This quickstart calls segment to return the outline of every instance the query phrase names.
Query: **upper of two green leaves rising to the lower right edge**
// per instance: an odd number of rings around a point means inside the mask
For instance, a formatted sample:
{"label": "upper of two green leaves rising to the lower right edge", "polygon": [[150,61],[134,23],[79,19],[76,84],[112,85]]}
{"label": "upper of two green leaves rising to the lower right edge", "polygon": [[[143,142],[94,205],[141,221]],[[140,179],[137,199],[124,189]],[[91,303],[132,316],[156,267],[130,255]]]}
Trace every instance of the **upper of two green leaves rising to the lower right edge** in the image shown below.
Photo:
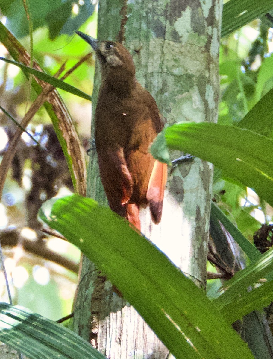
{"label": "upper of two green leaves rising to the lower right edge", "polygon": [[[241,293],[245,295],[249,286],[265,278],[273,270],[273,248],[265,252],[258,261],[249,265],[244,270],[237,272],[233,278],[225,282],[223,289],[226,291],[213,301],[220,310],[232,303]],[[272,282],[269,282],[272,283]]]}

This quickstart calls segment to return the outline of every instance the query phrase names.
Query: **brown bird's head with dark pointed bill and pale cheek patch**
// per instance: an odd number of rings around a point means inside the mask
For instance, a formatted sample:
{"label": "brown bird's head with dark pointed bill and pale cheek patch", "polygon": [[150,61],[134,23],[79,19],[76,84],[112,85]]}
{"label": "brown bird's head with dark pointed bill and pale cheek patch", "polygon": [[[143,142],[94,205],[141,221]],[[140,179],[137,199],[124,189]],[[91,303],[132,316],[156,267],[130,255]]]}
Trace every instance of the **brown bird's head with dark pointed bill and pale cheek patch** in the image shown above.
{"label": "brown bird's head with dark pointed bill and pale cheek patch", "polygon": [[102,77],[122,74],[123,77],[127,75],[134,78],[134,62],[129,51],[123,45],[114,41],[98,41],[80,31],[76,31],[76,33],[96,51],[101,64]]}

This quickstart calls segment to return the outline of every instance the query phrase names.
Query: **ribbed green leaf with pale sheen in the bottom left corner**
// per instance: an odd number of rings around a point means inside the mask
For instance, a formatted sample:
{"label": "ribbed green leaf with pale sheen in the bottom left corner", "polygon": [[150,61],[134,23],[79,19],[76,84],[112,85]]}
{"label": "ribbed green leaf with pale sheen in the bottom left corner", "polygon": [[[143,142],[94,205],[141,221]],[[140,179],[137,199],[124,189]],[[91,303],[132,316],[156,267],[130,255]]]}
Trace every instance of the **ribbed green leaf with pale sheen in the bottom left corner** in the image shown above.
{"label": "ribbed green leaf with pale sheen in the bottom left corner", "polygon": [[105,359],[71,330],[7,303],[0,303],[0,340],[30,359]]}

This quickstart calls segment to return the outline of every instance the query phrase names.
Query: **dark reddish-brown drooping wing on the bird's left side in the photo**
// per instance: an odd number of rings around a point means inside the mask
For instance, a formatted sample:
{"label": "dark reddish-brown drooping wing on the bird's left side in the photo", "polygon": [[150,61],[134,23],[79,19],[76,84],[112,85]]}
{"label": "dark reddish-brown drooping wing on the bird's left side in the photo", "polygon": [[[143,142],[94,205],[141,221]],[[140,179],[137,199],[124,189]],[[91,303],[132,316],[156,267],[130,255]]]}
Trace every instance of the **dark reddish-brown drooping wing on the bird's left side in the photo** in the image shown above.
{"label": "dark reddish-brown drooping wing on the bird's left side in the photo", "polygon": [[118,207],[126,204],[133,192],[133,180],[124,159],[123,148],[100,151],[98,163],[109,205],[119,213]]}

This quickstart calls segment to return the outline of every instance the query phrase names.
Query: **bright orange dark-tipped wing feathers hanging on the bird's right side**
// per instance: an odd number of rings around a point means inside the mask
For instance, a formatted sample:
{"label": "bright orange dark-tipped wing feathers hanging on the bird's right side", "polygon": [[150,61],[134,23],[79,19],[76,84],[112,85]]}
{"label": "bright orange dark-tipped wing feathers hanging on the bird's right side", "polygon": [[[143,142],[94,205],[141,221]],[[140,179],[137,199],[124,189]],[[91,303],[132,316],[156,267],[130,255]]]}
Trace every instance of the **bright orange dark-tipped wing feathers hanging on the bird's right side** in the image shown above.
{"label": "bright orange dark-tipped wing feathers hanging on the bird's right side", "polygon": [[148,183],[147,200],[154,223],[158,224],[162,216],[164,191],[167,182],[167,164],[154,161],[152,173]]}

